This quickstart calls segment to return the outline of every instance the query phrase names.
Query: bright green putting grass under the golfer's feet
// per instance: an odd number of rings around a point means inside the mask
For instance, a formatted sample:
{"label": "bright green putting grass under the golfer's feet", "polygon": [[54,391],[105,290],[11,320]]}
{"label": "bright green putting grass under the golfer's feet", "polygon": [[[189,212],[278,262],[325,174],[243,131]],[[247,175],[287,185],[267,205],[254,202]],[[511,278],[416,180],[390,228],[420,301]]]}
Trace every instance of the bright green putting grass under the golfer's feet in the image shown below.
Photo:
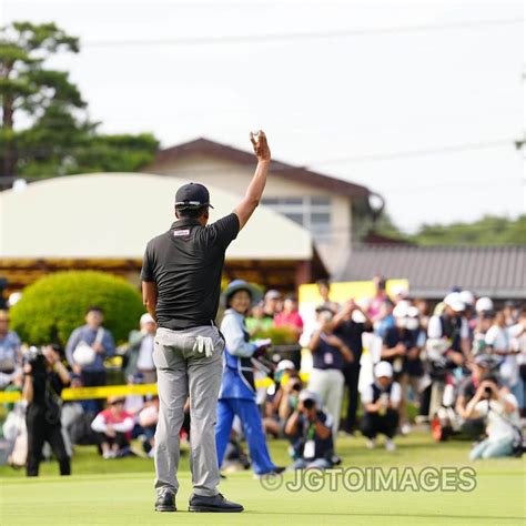
{"label": "bright green putting grass under the golfer's feet", "polygon": [[[245,506],[243,514],[189,514],[191,492],[188,455],[182,457],[176,514],[153,509],[153,463],[145,458],[102,461],[93,448],[80,447],[73,476],[57,476],[55,463],[42,465],[39,478],[0,468],[0,524],[2,525],[164,525],[164,524],[352,524],[352,525],[507,525],[525,524],[524,461],[467,459],[465,442],[433,443],[427,434],[397,439],[398,448],[368,451],[363,438],[338,438],[345,466],[354,467],[462,467],[476,469],[476,488],[465,492],[348,492],[327,484],[320,492],[265,490],[252,472],[229,475],[221,490]],[[286,464],[286,446],[273,441],[274,462]],[[286,475],[285,482],[293,479]]]}

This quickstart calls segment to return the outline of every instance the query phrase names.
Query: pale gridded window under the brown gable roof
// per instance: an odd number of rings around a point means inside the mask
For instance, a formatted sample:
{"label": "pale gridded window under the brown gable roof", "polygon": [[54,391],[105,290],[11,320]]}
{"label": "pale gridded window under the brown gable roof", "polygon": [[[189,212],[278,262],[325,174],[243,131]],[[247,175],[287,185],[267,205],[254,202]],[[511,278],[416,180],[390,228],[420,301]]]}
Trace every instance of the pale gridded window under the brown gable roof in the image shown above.
{"label": "pale gridded window under the brown gable roof", "polygon": [[262,204],[305,226],[316,241],[331,240],[331,198],[264,198]]}

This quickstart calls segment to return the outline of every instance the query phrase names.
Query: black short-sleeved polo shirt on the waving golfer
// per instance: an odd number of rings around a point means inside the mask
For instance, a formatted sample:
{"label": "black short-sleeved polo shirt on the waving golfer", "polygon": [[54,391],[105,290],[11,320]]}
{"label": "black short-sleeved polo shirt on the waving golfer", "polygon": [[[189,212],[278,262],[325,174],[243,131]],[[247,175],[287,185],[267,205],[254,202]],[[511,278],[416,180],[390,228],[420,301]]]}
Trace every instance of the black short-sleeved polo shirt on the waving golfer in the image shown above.
{"label": "black short-sleeved polo shirt on the waving golfer", "polygon": [[234,213],[208,226],[183,219],[148,243],[141,279],[156,284],[159,326],[183,330],[215,320],[224,253],[239,231]]}

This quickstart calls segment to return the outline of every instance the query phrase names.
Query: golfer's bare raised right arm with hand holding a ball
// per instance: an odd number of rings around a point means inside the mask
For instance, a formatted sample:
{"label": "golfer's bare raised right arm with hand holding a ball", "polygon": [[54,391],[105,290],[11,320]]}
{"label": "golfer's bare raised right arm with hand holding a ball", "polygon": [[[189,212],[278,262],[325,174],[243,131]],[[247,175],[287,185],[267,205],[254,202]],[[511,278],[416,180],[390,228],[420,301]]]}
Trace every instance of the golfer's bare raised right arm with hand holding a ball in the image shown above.
{"label": "golfer's bare raised right arm with hand holding a ball", "polygon": [[[256,140],[257,139],[257,140]],[[257,135],[251,132],[250,140],[254,146],[255,156],[257,158],[257,166],[249,188],[246,189],[243,201],[234,209],[234,213],[240,220],[240,230],[246,224],[256,206],[260,204],[263,190],[265,189],[266,175],[271,164],[271,150],[266,143],[266,135],[260,130]]]}

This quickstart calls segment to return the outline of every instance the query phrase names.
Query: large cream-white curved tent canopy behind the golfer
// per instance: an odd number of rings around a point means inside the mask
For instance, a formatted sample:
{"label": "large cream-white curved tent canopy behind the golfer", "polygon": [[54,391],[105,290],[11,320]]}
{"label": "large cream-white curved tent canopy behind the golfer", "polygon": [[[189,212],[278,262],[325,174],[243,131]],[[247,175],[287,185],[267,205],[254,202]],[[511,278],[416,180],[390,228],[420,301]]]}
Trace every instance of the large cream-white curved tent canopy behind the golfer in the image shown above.
{"label": "large cream-white curved tent canopy behind the golfer", "polygon": [[[174,195],[188,181],[143,173],[49,179],[0,192],[0,257],[136,259],[174,221]],[[209,188],[210,221],[240,198]],[[229,260],[311,260],[307,230],[261,206],[226,252]]]}

